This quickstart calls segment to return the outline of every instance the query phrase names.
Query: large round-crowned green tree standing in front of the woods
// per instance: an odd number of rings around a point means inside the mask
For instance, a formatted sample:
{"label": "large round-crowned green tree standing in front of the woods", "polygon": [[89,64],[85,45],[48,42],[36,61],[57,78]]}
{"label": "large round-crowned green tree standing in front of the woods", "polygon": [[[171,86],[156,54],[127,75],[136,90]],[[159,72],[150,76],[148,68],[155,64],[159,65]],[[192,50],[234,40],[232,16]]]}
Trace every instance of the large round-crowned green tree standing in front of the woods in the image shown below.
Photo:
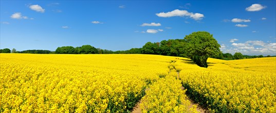
{"label": "large round-crowned green tree standing in front of the woods", "polygon": [[220,45],[209,32],[193,32],[186,35],[185,40],[189,56],[198,66],[208,67],[207,59],[220,53]]}

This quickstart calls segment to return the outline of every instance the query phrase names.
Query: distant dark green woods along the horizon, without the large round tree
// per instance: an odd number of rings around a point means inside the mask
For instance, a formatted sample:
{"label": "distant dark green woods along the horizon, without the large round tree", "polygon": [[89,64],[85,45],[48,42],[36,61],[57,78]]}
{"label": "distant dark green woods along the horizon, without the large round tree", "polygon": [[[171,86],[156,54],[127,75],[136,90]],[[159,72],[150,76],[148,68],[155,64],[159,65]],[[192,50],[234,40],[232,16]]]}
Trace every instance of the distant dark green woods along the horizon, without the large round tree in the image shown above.
{"label": "distant dark green woods along the horizon, without the large round tree", "polygon": [[[189,54],[186,51],[186,42],[182,39],[175,40],[163,40],[161,42],[148,42],[142,48],[132,48],[130,50],[112,51],[101,48],[95,48],[90,45],[83,45],[81,47],[62,46],[58,47],[56,51],[50,50],[24,50],[16,51],[16,49],[0,49],[0,53],[34,53],[34,54],[159,54],[168,56],[180,56],[189,58]],[[231,53],[213,54],[210,56],[215,59],[222,60],[236,60],[236,59],[251,59],[251,58],[263,58],[263,55],[242,55],[237,52],[234,55]],[[265,57],[270,57],[267,55]]]}

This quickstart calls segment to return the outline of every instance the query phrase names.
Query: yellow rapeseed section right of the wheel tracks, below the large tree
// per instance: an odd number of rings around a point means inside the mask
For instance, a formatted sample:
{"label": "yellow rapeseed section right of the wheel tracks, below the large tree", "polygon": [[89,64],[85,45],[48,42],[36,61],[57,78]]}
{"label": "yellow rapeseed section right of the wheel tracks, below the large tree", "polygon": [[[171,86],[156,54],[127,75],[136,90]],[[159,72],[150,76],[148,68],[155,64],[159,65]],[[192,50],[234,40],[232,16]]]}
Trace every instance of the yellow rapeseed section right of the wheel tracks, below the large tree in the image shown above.
{"label": "yellow rapeseed section right of the wheel tracks, below the large tree", "polygon": [[276,111],[275,57],[207,62],[208,68],[189,59],[175,63],[191,98],[211,112]]}

